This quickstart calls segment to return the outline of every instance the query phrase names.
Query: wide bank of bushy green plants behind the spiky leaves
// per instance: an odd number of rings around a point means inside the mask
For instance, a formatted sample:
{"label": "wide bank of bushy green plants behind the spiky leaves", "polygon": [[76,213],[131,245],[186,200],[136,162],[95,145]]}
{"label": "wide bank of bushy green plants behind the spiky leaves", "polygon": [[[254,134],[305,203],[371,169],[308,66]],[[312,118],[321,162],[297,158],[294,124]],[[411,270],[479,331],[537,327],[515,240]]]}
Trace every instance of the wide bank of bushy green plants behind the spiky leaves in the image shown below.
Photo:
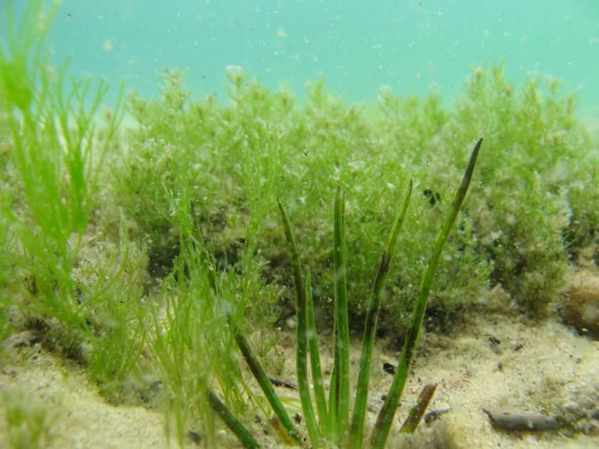
{"label": "wide bank of bushy green plants behind the spiky leaves", "polygon": [[[488,137],[487,158],[481,182],[472,186],[475,200],[445,246],[451,263],[437,272],[439,289],[429,298],[435,313],[427,325],[451,329],[452,317],[495,284],[519,309],[540,318],[557,296],[568,259],[586,254],[589,245],[597,247],[599,218],[591,206],[599,195],[596,156],[575,118],[575,99],[555,81],[545,86],[528,78],[516,86],[503,66],[489,66],[474,70],[455,104],[382,89],[367,108],[333,96],[322,81],[308,85],[302,103],[286,91],[269,92],[241,68],[227,74],[226,103],[214,95],[194,98],[179,71],[162,76],[160,98],[130,98],[139,126],[128,134],[127,151],[110,158],[115,182],[106,202],[113,207],[106,209],[122,210],[135,230],[132,239],[146,239],[155,277],[168,272],[178,250],[162,185],[194,189],[195,213],[210,250],[232,266],[247,237],[255,193],[269,180],[273,196],[302,192],[286,207],[296,217],[298,234],[306,236],[302,253],[313,264],[315,301],[331,307],[333,236],[325,231],[321,210],[323,198],[340,185],[352,191],[348,309],[350,316],[364,319],[370,267],[386,232],[380,217],[392,215],[392,198],[410,172],[417,180],[413,213],[398,237],[405,269],[391,274],[387,289],[397,301],[383,301],[379,323],[380,331],[399,338],[410,326],[417,299],[412,279],[424,269],[427,236],[435,232],[452,195],[451,182],[459,176],[452,162],[465,162],[461,136],[470,135]],[[382,171],[397,175],[381,185]],[[288,264],[281,262],[283,237],[275,208],[260,208],[263,220],[252,234],[259,242],[256,259],[266,262],[264,277],[281,288],[279,306],[285,310],[293,294],[280,282],[289,277]],[[110,232],[110,220],[102,225]]]}

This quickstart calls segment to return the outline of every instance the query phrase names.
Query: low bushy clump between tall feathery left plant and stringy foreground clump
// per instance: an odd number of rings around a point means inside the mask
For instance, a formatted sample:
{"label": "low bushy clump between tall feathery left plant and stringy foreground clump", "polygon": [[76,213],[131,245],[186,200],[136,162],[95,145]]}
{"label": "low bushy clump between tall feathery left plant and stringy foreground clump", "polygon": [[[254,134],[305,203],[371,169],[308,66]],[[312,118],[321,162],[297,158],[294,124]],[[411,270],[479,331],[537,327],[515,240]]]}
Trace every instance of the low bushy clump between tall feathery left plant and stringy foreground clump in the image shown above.
{"label": "low bushy clump between tall feathery left plant and stringy foreground clump", "polygon": [[120,244],[97,244],[82,254],[73,272],[78,289],[96,304],[86,311],[90,334],[83,332],[84,362],[109,401],[123,399],[123,383],[137,376],[146,348],[148,310],[147,254],[126,237]]}

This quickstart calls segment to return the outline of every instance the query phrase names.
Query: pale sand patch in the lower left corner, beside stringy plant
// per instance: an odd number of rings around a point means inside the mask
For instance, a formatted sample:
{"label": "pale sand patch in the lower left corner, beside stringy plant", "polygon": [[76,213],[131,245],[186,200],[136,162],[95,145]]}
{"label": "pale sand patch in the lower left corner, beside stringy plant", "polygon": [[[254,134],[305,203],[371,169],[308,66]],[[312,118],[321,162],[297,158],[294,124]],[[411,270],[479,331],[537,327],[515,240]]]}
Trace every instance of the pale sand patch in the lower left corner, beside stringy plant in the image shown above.
{"label": "pale sand patch in the lower left corner, beside stringy plant", "polygon": [[[35,351],[14,366],[4,366],[0,389],[24,408],[44,408],[48,448],[163,448],[167,446],[162,413],[141,407],[114,407],[78,366]],[[5,399],[6,400],[6,399]],[[6,408],[0,409],[0,448],[9,448]]]}

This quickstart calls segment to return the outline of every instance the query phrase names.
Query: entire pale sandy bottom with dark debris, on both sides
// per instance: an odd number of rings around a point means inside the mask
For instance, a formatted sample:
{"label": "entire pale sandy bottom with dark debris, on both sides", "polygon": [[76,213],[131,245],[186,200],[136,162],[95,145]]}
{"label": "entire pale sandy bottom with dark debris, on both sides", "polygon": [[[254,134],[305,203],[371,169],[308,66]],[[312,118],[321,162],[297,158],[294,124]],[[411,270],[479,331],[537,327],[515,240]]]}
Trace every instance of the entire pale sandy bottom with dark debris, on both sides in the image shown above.
{"label": "entire pale sandy bottom with dark debris, on both sides", "polygon": [[[294,382],[293,344],[293,331],[283,330],[275,353],[284,361],[276,376]],[[354,370],[359,354],[356,339],[351,353]],[[382,347],[375,352],[369,426],[392,381],[382,363],[396,364],[398,356]],[[328,363],[330,348],[323,347],[323,364]],[[473,313],[464,317],[450,336],[425,334],[398,411],[400,421],[427,383],[437,383],[427,411],[449,411],[432,423],[421,423],[416,433],[407,437],[397,434],[396,425],[388,447],[599,448],[599,341],[579,336],[557,318],[535,324],[505,314]],[[289,398],[296,395],[288,388],[278,391]],[[169,445],[159,411],[108,405],[81,368],[65,365],[44,351],[33,349],[27,357],[15,356],[6,364],[0,373],[0,392],[40,404],[51,413],[48,448]],[[493,425],[483,411],[494,407],[558,416],[568,425],[547,432],[508,432]],[[9,447],[4,411],[0,408],[2,448]],[[271,435],[264,435],[264,427],[255,426],[265,447],[280,446]],[[583,429],[586,435],[578,433]],[[224,430],[219,435],[221,447],[231,447],[229,435],[224,435]],[[176,447],[174,441],[171,445]],[[193,447],[194,443],[189,440],[188,445]]]}

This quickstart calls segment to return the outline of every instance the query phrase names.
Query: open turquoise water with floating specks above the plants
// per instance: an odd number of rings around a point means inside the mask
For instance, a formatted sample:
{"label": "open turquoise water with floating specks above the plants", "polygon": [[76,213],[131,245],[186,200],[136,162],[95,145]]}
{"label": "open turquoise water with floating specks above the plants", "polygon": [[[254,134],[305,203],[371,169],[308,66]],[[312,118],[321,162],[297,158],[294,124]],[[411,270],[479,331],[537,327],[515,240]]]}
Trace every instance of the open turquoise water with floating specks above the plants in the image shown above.
{"label": "open turquoise water with floating specks above the plants", "polygon": [[599,111],[598,0],[63,0],[49,43],[75,75],[125,78],[142,96],[170,67],[194,96],[222,98],[226,67],[241,66],[300,97],[322,76],[351,102],[381,86],[450,100],[473,67],[504,61],[516,83],[562,78],[581,113]]}

